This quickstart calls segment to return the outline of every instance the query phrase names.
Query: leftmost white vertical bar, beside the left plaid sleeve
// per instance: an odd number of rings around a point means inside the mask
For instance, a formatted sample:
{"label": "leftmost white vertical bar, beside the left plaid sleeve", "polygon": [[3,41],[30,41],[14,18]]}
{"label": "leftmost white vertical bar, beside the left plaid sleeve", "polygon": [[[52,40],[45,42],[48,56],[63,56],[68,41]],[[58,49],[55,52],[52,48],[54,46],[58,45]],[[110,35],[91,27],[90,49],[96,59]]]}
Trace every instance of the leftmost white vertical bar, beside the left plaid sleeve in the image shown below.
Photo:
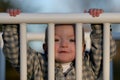
{"label": "leftmost white vertical bar, beside the left plaid sleeve", "polygon": [[26,23],[20,24],[20,80],[27,80]]}

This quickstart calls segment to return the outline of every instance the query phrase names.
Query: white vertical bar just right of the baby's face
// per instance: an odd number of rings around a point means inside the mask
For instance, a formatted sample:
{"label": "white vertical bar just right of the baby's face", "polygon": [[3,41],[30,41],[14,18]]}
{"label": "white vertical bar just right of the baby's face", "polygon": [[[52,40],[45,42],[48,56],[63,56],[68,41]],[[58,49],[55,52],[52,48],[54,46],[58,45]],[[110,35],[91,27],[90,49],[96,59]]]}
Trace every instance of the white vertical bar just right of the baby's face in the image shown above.
{"label": "white vertical bar just right of the baby's face", "polygon": [[76,80],[82,80],[82,24],[76,24]]}

